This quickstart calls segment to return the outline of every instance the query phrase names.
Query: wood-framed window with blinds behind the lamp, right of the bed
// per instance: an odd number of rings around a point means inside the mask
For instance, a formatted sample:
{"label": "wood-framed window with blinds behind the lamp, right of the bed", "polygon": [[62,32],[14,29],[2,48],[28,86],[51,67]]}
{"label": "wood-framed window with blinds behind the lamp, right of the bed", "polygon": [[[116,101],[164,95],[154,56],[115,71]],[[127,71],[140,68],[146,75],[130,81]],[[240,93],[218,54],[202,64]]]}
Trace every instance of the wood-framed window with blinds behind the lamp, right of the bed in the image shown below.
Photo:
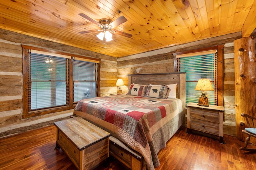
{"label": "wood-framed window with blinds behind the lamp, right of the bed", "polygon": [[[206,91],[210,105],[223,106],[223,45],[200,50],[173,53],[174,68],[177,72],[186,72],[186,104],[198,103],[202,91],[195,87],[199,79],[210,79],[214,91]],[[175,67],[176,65],[176,67]]]}

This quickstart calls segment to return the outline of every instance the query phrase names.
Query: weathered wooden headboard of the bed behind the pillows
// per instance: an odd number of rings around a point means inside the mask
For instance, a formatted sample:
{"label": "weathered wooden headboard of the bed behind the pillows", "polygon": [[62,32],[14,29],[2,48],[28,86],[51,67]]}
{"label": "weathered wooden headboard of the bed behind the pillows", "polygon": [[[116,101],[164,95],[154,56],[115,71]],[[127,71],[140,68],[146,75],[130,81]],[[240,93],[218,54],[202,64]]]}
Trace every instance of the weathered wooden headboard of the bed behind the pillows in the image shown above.
{"label": "weathered wooden headboard of the bed behind the pillows", "polygon": [[[176,98],[182,101],[182,109],[185,120],[186,113],[186,73],[152,73],[152,74],[129,74],[128,87],[132,83],[141,85],[167,85],[177,83]],[[183,120],[182,125],[185,125]]]}

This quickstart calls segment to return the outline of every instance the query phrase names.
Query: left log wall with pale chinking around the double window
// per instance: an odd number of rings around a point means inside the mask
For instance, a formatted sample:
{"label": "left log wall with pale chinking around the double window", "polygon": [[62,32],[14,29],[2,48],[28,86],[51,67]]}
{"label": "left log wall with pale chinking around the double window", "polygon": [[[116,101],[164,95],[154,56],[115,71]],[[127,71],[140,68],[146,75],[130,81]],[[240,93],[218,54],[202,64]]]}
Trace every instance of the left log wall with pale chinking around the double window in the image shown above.
{"label": "left log wall with pale chinking around the double window", "polygon": [[0,137],[50,125],[73,110],[22,119],[22,47],[30,45],[101,59],[100,94],[116,93],[116,57],[0,29]]}

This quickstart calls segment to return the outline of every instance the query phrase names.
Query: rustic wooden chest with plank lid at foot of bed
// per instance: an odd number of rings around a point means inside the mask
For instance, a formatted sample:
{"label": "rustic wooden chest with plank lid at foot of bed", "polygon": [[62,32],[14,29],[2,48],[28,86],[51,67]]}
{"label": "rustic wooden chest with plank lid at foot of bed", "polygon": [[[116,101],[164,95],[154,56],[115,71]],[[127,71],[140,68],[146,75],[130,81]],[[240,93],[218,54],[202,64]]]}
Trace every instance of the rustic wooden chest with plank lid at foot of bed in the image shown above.
{"label": "rustic wooden chest with plank lid at foot of bed", "polygon": [[[109,157],[110,133],[80,118],[55,122],[56,145],[80,170],[94,169]],[[57,147],[57,146],[56,146]]]}

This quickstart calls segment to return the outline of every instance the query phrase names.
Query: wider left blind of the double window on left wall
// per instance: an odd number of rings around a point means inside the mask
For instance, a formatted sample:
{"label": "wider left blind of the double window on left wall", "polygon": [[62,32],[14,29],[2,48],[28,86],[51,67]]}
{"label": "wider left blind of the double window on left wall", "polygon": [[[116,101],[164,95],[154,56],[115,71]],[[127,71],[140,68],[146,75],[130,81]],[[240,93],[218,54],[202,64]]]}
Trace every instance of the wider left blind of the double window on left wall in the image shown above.
{"label": "wider left blind of the double window on left wall", "polygon": [[68,59],[31,52],[29,57],[28,111],[68,105]]}

